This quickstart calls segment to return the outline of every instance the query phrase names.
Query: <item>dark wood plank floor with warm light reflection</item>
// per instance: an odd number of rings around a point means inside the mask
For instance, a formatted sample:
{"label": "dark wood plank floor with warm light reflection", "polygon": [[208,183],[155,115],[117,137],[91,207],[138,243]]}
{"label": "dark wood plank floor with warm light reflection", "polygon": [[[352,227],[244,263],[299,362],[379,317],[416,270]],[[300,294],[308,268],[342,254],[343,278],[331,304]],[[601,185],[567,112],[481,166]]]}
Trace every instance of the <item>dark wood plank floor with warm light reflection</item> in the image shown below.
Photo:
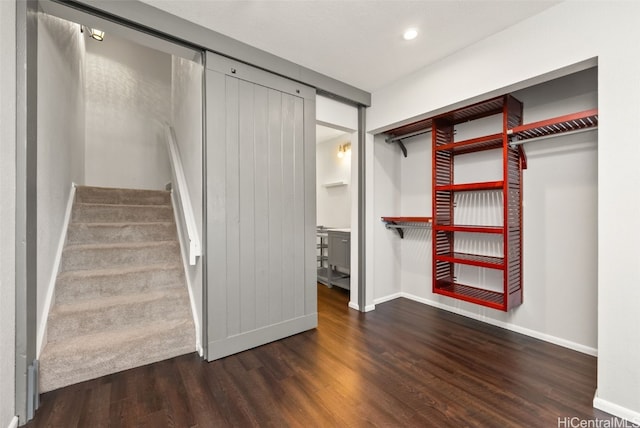
{"label": "dark wood plank floor with warm light reflection", "polygon": [[319,327],[42,396],[27,427],[557,427],[592,408],[596,359],[406,299],[361,314],[319,286]]}

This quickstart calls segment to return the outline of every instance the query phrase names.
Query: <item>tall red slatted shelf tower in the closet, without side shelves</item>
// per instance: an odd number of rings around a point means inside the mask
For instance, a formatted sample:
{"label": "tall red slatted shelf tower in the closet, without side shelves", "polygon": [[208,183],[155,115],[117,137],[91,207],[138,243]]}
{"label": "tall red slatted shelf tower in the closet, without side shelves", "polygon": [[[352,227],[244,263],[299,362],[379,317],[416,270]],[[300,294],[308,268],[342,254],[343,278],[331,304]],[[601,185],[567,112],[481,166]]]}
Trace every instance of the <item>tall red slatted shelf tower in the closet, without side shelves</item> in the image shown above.
{"label": "tall red slatted shelf tower in the closet, without side shelves", "polygon": [[[454,126],[483,117],[502,115],[502,132],[465,141],[454,141]],[[490,308],[508,311],[522,304],[522,169],[526,159],[521,147],[509,145],[509,130],[522,124],[522,103],[510,95],[493,98],[433,118],[433,292]],[[501,152],[502,180],[455,183],[455,157],[492,150]],[[456,192],[501,190],[503,226],[459,225],[454,223]],[[502,257],[455,252],[455,233],[475,232],[502,236]],[[456,265],[502,271],[501,291],[461,284]]]}

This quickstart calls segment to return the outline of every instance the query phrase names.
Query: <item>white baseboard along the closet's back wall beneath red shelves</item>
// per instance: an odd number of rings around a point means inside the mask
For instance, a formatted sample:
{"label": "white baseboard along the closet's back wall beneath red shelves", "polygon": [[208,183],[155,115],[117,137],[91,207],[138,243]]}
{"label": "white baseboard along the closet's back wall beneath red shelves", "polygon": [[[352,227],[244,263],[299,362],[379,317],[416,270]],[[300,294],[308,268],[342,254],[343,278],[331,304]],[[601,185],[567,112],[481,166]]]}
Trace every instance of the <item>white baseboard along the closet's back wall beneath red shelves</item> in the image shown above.
{"label": "white baseboard along the closet's back wall beneath red shelves", "polygon": [[386,302],[392,299],[396,299],[398,297],[404,297],[409,300],[413,300],[418,303],[423,303],[425,305],[433,306],[438,309],[442,309],[448,312],[453,312],[458,315],[465,316],[467,318],[472,318],[477,321],[482,321],[487,324],[495,325],[496,327],[504,328],[506,330],[514,331],[516,333],[524,334],[525,336],[533,337],[535,339],[544,340],[545,342],[553,343],[558,346],[562,346],[563,348],[572,349],[574,351],[581,352],[583,354],[592,355],[594,357],[598,356],[598,350],[595,348],[591,348],[589,346],[582,345],[580,343],[572,342],[570,340],[562,339],[560,337],[552,336],[546,333],[542,333],[539,331],[531,330],[525,327],[521,327],[515,324],[507,323],[504,321],[496,320],[493,318],[489,318],[486,316],[478,315],[473,312],[465,311],[464,309],[454,308],[448,305],[445,305],[441,302],[436,302],[434,300],[426,299],[424,297],[419,297],[410,293],[400,292],[391,294],[389,296],[381,297],[376,299],[376,303]]}

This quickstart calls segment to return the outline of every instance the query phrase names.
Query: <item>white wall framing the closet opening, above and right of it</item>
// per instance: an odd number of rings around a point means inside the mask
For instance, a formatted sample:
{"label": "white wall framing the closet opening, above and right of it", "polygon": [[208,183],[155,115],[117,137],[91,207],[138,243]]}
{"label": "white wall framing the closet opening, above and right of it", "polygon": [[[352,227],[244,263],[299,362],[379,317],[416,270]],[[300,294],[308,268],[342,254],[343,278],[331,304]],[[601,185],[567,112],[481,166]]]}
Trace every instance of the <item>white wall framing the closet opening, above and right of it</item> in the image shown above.
{"label": "white wall framing the closet opening, above and right of it", "polygon": [[640,240],[640,129],[633,124],[640,111],[640,52],[635,43],[639,15],[637,2],[587,2],[580,7],[562,2],[374,93],[367,116],[370,130],[388,129],[470,99],[520,89],[540,76],[597,58],[601,122],[594,403],[638,419],[640,328],[635,313],[640,259],[633,243]]}

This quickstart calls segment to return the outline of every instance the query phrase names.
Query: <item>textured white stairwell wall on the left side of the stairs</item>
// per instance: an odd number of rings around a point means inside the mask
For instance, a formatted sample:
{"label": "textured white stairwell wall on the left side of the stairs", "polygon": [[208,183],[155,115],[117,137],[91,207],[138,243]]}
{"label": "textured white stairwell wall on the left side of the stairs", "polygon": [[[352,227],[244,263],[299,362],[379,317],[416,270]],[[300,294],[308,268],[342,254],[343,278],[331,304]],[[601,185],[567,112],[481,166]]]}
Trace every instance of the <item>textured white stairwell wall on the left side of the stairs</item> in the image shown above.
{"label": "textured white stairwell wall on the left side of the stairs", "polygon": [[38,19],[38,316],[64,228],[71,183],[84,180],[84,38],[78,24]]}

